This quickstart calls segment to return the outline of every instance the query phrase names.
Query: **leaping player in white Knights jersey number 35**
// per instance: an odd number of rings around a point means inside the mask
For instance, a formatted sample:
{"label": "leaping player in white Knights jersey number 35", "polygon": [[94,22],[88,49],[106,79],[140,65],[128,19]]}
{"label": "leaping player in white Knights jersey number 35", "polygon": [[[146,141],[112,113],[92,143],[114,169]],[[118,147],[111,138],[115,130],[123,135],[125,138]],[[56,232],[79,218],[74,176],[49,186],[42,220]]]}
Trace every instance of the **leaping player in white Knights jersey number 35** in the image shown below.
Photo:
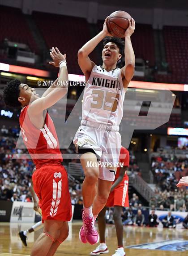
{"label": "leaping player in white Knights jersey number 35", "polygon": [[[107,17],[108,18],[108,17]],[[131,35],[135,29],[134,19],[128,20],[122,43],[107,30],[107,18],[103,30],[78,51],[78,63],[85,75],[86,85],[82,107],[81,126],[74,137],[77,153],[85,172],[82,186],[84,210],[83,226],[79,232],[82,243],[97,243],[98,232],[94,221],[103,209],[115,179],[115,163],[118,162],[121,136],[118,132],[123,117],[124,94],[134,75],[135,55]],[[108,36],[108,37],[106,37]],[[103,40],[103,66],[97,66],[88,55]],[[125,66],[117,68],[124,50]],[[103,165],[98,165],[98,158]],[[88,163],[92,163],[90,167]],[[111,163],[111,166],[108,164]]]}

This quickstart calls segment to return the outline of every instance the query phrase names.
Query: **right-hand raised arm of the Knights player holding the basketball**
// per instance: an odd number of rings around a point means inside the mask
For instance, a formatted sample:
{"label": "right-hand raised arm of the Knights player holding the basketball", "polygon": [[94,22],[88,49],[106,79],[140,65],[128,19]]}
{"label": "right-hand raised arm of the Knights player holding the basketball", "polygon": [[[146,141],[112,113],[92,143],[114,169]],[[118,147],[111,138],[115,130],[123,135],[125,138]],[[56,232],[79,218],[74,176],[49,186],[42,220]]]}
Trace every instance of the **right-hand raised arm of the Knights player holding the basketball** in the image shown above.
{"label": "right-hand raised arm of the Knights player holding the basketball", "polygon": [[128,19],[129,26],[125,31],[125,66],[121,68],[121,76],[124,83],[124,88],[128,87],[129,82],[134,76],[134,65],[135,65],[135,55],[131,43],[131,35],[134,33],[135,21],[134,19]]}

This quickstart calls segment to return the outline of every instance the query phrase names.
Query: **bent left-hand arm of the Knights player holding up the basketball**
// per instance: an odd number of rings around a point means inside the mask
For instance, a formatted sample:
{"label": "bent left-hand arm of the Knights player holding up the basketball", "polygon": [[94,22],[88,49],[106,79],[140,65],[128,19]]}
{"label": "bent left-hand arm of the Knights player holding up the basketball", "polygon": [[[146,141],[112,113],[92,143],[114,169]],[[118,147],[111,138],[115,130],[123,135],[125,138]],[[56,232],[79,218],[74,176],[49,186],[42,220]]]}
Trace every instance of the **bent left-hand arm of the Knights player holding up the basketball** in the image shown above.
{"label": "bent left-hand arm of the Knights player holding up the basketball", "polygon": [[[107,17],[108,18],[108,17]],[[93,61],[90,60],[88,55],[95,49],[95,47],[104,39],[105,36],[111,36],[107,29],[107,18],[103,24],[103,30],[89,40],[85,45],[81,47],[78,51],[78,64],[85,75],[86,81],[88,80],[90,73],[95,65]]]}

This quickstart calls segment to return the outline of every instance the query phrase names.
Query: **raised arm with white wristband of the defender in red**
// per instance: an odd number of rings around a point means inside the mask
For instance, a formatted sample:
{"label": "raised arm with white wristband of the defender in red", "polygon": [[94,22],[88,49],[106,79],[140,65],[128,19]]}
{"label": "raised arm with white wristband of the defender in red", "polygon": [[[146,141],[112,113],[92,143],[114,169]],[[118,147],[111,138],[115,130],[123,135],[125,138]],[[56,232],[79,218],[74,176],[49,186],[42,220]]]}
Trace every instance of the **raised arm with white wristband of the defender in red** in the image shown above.
{"label": "raised arm with white wristband of the defender in red", "polygon": [[43,112],[43,110],[50,108],[61,98],[64,97],[68,92],[68,71],[66,65],[66,54],[61,54],[60,51],[56,48],[52,48],[50,53],[51,58],[53,59],[50,64],[55,67],[60,65],[60,73],[57,80],[57,84],[54,85],[55,88],[50,88],[51,92],[46,96],[36,99],[30,104],[28,108],[29,115],[38,115],[38,112]]}

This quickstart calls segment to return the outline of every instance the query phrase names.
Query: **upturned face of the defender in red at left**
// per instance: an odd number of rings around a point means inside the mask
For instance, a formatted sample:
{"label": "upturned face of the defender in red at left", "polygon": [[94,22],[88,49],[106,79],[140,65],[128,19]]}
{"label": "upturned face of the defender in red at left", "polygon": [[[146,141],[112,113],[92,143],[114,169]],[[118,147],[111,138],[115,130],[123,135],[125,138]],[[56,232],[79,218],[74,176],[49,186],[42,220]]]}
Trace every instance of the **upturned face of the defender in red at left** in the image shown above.
{"label": "upturned face of the defender in red at left", "polygon": [[39,95],[36,93],[34,88],[31,88],[26,84],[20,84],[19,87],[20,87],[20,96],[18,100],[21,102],[22,105],[24,106],[29,105],[29,103],[39,98]]}

